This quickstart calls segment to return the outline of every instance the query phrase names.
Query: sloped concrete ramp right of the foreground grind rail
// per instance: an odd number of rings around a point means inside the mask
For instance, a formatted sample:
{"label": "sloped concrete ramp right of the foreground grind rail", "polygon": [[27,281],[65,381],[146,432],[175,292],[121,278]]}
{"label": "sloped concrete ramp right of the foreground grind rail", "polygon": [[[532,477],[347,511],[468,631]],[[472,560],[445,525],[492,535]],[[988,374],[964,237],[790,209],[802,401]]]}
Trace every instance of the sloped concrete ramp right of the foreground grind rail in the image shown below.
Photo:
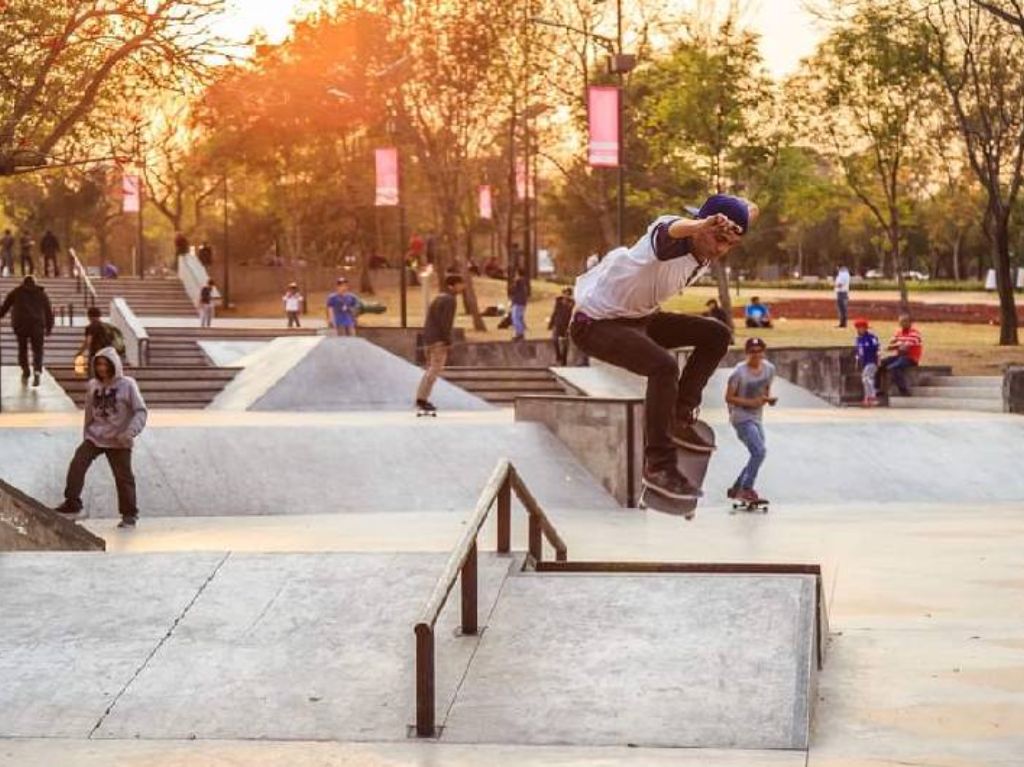
{"label": "sloped concrete ramp right of the foreground grind rail", "polygon": [[802,574],[513,576],[442,740],[806,750],[815,589]]}

